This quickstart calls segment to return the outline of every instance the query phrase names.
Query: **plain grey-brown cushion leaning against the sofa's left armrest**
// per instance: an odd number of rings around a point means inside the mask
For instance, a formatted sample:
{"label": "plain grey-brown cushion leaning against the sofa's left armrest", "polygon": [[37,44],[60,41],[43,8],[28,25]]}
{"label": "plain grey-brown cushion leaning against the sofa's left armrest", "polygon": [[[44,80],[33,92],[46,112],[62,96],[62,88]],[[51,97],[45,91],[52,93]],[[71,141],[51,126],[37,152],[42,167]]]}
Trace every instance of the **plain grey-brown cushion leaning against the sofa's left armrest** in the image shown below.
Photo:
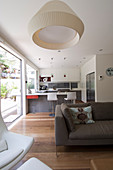
{"label": "plain grey-brown cushion leaning against the sofa's left armrest", "polygon": [[62,111],[63,116],[65,118],[68,130],[69,131],[75,130],[75,125],[74,125],[74,122],[73,122],[71,111],[65,103],[61,104],[61,111]]}

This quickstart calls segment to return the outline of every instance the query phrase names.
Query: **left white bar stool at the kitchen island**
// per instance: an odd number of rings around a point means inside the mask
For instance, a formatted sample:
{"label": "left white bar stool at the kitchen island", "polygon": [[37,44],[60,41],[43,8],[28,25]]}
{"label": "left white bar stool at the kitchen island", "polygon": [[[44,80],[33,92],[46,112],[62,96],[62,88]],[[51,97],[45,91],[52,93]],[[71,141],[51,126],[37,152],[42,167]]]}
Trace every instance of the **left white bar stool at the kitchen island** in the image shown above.
{"label": "left white bar stool at the kitchen island", "polygon": [[52,102],[52,114],[49,114],[49,116],[54,117],[55,116],[55,109],[54,109],[54,104],[58,100],[57,94],[56,93],[48,93],[47,95],[47,100]]}

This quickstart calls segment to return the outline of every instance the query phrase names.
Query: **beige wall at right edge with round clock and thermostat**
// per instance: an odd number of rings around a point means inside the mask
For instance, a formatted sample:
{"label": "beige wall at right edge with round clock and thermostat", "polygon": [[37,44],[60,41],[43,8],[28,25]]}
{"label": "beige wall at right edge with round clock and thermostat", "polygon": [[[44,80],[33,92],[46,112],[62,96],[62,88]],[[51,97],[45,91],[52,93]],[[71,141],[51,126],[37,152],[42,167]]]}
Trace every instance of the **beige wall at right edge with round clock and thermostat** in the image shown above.
{"label": "beige wall at right edge with round clock and thermostat", "polygon": [[[109,67],[113,67],[113,55],[96,56],[96,86],[99,102],[113,102],[113,76],[106,75],[106,69]],[[99,80],[100,75],[103,76],[102,80]]]}

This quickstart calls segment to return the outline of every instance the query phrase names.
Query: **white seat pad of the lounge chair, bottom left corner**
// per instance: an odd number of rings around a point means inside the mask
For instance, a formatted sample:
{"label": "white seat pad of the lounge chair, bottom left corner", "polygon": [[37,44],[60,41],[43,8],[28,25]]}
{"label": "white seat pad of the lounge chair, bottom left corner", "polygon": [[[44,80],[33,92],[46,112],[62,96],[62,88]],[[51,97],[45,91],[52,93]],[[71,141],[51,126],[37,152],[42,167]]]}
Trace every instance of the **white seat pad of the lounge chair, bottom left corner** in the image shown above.
{"label": "white seat pad of the lounge chair, bottom left corner", "polygon": [[0,153],[0,169],[12,161],[14,161],[21,153],[23,149],[8,149]]}

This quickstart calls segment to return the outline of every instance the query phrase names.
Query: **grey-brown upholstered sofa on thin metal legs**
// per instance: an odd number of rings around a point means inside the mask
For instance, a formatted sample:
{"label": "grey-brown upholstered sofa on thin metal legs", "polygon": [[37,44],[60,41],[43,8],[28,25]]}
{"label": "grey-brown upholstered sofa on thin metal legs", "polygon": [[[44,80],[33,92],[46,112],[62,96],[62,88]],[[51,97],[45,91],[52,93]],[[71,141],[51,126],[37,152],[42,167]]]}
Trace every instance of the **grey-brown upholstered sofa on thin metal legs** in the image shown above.
{"label": "grey-brown upholstered sofa on thin metal legs", "polygon": [[56,146],[113,144],[113,102],[79,103],[67,106],[69,108],[91,106],[95,123],[75,125],[75,129],[70,130],[61,105],[57,105],[55,110]]}

